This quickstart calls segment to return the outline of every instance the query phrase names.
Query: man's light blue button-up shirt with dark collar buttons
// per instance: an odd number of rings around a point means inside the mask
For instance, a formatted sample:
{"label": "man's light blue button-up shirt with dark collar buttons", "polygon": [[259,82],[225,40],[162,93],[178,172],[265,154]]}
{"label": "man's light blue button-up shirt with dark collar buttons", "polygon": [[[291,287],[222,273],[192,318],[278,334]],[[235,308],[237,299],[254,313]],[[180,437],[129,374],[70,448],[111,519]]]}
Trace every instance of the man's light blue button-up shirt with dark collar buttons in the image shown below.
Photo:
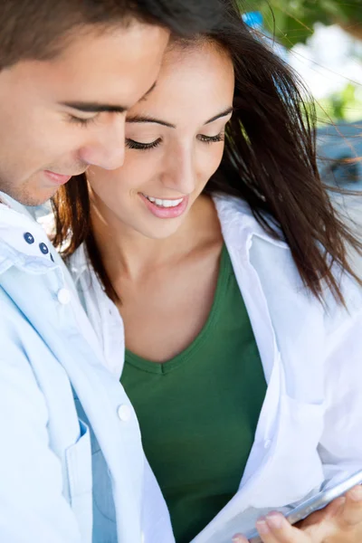
{"label": "man's light blue button-up shirt with dark collar buttons", "polygon": [[172,543],[138,422],[43,229],[0,205],[0,541]]}

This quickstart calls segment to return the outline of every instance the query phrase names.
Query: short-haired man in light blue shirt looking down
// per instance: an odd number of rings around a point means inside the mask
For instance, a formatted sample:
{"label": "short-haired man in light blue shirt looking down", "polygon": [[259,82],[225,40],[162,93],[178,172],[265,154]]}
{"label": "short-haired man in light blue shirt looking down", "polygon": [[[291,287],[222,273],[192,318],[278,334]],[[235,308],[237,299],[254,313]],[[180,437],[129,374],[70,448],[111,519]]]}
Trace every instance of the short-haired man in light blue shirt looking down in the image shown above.
{"label": "short-haired man in light blue shirt looking down", "polygon": [[169,32],[215,16],[217,0],[0,3],[4,543],[173,541],[129,399],[42,229],[5,203],[119,167],[126,112],[156,84]]}

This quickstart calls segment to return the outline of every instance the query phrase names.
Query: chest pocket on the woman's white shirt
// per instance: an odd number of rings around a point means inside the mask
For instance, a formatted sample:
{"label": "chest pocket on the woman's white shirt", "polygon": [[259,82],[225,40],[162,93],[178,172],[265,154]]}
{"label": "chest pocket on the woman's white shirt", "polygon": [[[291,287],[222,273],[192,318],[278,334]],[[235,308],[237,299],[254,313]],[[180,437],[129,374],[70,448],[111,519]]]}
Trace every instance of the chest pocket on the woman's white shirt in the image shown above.
{"label": "chest pocket on the woman's white shirt", "polygon": [[267,507],[282,507],[319,490],[323,467],[318,445],[324,413],[323,404],[281,395],[279,424],[271,436],[270,458],[262,477],[262,486],[269,489]]}

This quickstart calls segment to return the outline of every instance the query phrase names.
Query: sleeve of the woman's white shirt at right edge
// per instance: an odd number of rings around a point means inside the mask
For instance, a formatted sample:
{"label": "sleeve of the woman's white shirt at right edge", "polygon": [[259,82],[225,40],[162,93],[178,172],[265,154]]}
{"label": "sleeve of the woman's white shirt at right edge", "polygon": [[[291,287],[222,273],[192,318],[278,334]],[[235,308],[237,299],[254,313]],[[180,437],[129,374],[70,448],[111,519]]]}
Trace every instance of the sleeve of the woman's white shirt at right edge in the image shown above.
{"label": "sleeve of the woman's white shirt at right edge", "polygon": [[328,486],[362,469],[362,302],[338,310],[326,341],[326,414],[319,443]]}

